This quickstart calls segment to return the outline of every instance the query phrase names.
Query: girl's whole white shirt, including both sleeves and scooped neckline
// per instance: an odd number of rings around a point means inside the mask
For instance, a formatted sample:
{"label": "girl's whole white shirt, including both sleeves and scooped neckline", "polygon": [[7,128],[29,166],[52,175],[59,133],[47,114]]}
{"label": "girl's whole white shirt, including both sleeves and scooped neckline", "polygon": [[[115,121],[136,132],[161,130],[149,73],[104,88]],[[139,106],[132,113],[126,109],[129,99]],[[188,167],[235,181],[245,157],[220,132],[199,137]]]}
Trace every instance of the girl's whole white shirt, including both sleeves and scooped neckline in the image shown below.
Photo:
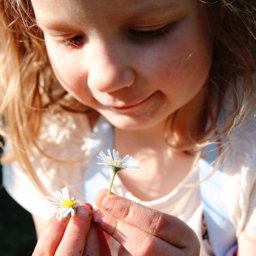
{"label": "girl's whole white shirt, including both sleeves and scooped neckline", "polygon": [[[253,134],[255,135],[255,130],[253,130]],[[250,140],[255,143],[256,138],[253,137]],[[92,158],[88,158],[88,154],[90,145],[93,143],[93,133],[86,116],[84,114],[65,112],[57,115],[45,114],[39,133],[39,141],[39,146],[46,151],[46,154],[52,157],[70,161],[81,160],[76,163],[54,162],[42,156],[35,149],[35,154],[41,158],[44,168],[34,162],[34,170],[37,177],[43,182],[45,190],[51,194],[52,191],[60,190],[60,188],[67,185],[70,194],[82,201],[85,198],[85,195],[83,195],[84,183],[89,183],[87,182],[86,174],[89,173],[88,170],[92,165],[90,162]],[[243,150],[246,149],[243,148]],[[236,150],[235,153],[237,153]],[[94,154],[97,153],[94,152]],[[235,156],[235,158],[237,157]],[[33,159],[31,160],[33,161]],[[251,160],[248,161],[250,162]],[[227,193],[226,196],[227,198],[230,197],[230,218],[233,219],[237,230],[256,227],[256,167],[255,162],[253,164],[250,171],[243,169],[234,175],[227,174],[227,184],[231,193],[229,195]],[[85,182],[84,179],[86,179]],[[141,201],[139,198],[134,197],[123,186],[118,177],[115,179],[113,191],[134,202],[179,217],[193,228],[198,235],[201,242],[201,256],[214,255],[211,247],[208,247],[207,243],[205,244],[202,241],[203,206],[199,186],[187,186],[196,181],[198,181],[197,167],[191,170],[183,182],[169,195],[154,201]],[[47,200],[44,194],[23,173],[17,162],[12,163],[10,166],[4,166],[3,183],[8,193],[31,214],[45,219],[50,218],[52,212],[47,207]],[[250,184],[248,189],[246,188],[247,184]],[[243,193],[241,194],[242,190]],[[90,195],[90,197],[94,198],[94,194]],[[93,202],[89,203],[93,204]]]}

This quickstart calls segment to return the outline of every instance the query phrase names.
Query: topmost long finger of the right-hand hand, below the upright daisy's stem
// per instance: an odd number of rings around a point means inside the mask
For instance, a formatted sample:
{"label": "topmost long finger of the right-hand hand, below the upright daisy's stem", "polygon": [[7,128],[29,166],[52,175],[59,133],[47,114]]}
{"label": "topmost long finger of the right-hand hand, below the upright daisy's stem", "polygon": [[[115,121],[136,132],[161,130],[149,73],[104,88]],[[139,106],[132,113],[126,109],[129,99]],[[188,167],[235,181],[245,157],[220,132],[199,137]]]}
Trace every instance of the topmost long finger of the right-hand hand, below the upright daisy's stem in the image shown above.
{"label": "topmost long finger of the right-hand hand, below the upright daisy's stem", "polygon": [[120,220],[179,248],[197,241],[194,231],[179,218],[134,203],[124,197],[103,198],[102,207]]}

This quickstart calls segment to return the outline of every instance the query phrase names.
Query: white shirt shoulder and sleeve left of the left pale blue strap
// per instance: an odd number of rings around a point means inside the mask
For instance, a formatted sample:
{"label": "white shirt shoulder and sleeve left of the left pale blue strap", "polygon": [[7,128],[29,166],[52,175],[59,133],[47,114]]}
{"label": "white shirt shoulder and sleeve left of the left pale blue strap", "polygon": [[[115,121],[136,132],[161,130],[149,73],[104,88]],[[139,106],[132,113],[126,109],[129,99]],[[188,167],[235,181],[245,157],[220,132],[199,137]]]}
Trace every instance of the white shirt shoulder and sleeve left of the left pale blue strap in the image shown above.
{"label": "white shirt shoulder and sleeve left of the left pale blue strap", "polygon": [[6,190],[27,211],[46,219],[49,209],[45,207],[45,195],[31,177],[40,180],[49,195],[69,186],[75,191],[75,197],[81,200],[90,141],[90,124],[85,114],[45,112],[36,141],[38,148],[31,148],[33,156],[29,156],[33,170],[25,172],[15,161],[4,166]]}

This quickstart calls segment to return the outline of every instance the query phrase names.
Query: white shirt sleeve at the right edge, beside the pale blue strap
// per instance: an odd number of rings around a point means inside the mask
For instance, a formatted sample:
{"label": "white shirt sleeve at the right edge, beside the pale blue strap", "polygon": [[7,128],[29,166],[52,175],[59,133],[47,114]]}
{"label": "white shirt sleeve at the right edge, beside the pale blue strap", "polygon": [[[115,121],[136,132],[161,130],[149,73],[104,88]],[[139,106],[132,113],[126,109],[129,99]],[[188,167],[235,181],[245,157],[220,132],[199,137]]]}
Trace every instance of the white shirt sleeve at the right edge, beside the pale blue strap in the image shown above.
{"label": "white shirt sleeve at the right edge, beside the pale blue strap", "polygon": [[229,137],[225,172],[227,203],[237,236],[256,227],[256,121]]}

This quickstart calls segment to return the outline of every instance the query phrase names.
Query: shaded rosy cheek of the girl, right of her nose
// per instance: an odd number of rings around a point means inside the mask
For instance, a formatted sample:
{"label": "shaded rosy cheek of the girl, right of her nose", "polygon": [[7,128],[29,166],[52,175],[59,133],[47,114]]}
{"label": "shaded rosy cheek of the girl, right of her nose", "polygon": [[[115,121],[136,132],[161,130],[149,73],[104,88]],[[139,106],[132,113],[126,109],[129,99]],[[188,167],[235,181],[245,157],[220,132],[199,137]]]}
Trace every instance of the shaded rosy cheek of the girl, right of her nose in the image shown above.
{"label": "shaded rosy cheek of the girl, right of her nose", "polygon": [[212,63],[211,43],[204,35],[185,37],[177,44],[166,44],[158,54],[147,60],[148,70],[154,84],[161,90],[175,92],[200,89],[209,76]]}

